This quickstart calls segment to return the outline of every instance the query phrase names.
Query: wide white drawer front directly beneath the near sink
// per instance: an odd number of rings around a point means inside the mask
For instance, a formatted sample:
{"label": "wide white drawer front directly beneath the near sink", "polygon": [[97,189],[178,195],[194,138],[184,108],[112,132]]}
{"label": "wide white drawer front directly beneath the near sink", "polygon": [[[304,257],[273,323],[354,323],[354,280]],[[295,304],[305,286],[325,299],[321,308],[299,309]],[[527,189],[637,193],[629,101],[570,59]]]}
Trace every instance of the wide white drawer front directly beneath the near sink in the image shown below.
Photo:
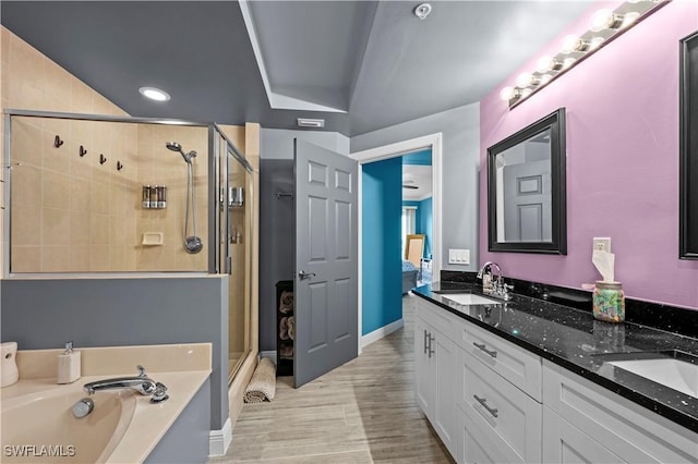
{"label": "wide white drawer front directly beneath the near sink", "polygon": [[545,362],[543,401],[625,462],[695,463],[698,434]]}

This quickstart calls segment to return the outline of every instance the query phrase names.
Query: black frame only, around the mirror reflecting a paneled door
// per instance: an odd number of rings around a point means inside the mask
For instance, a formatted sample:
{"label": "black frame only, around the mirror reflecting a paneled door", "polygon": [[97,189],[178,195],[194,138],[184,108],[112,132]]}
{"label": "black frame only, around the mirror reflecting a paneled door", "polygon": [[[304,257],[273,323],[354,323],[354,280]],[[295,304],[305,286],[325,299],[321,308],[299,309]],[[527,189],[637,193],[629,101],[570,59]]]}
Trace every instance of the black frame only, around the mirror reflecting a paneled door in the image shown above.
{"label": "black frame only, around the mirror reflecting a paneled door", "polygon": [[[546,129],[551,130],[551,242],[497,242],[495,159],[498,154],[518,145]],[[566,197],[566,141],[565,108],[522,129],[516,134],[488,148],[488,249],[490,252],[567,254],[567,197]]]}

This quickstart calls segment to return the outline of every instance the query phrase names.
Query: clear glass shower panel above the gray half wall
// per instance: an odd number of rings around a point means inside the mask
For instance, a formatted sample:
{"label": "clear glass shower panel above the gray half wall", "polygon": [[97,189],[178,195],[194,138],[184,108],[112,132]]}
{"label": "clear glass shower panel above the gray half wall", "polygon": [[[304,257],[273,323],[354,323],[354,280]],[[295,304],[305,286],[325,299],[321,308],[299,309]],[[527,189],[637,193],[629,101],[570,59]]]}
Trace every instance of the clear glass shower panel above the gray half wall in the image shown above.
{"label": "clear glass shower panel above the gray half wall", "polygon": [[185,232],[209,246],[207,126],[71,114],[8,121],[10,272],[208,270],[206,252],[184,247]]}

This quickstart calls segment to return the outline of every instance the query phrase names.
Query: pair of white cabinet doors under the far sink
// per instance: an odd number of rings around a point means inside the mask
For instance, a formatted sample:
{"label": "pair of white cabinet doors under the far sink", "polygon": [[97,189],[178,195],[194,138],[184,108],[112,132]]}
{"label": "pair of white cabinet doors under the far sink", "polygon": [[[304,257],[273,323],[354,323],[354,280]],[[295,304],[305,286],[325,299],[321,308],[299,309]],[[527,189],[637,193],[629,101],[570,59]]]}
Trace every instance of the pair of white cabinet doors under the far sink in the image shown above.
{"label": "pair of white cabinet doors under the far sink", "polygon": [[[422,308],[418,304],[418,308]],[[424,317],[418,309],[414,320],[414,369],[417,402],[429,418],[448,451],[456,451],[457,412],[456,400],[456,345],[444,334],[445,319],[434,313]],[[429,322],[428,322],[429,320]]]}

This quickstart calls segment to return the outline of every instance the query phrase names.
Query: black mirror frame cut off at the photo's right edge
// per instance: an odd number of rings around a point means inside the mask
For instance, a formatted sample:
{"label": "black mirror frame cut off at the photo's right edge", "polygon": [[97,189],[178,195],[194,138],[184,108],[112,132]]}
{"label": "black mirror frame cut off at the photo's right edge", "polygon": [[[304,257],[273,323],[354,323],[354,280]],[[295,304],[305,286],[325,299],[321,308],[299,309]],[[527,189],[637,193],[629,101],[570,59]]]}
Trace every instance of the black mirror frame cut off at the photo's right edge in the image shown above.
{"label": "black mirror frame cut off at the photo's right edge", "polygon": [[681,40],[678,75],[678,257],[698,259],[698,32]]}

